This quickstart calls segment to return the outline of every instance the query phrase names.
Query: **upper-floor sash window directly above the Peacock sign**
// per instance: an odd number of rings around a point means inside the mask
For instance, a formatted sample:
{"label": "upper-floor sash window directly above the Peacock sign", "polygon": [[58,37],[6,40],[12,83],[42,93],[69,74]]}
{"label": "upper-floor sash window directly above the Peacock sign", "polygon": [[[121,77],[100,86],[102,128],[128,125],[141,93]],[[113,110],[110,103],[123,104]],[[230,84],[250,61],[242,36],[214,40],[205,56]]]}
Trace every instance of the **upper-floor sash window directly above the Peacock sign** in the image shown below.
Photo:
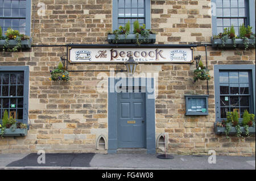
{"label": "upper-floor sash window directly above the Peacock sign", "polygon": [[130,31],[133,32],[133,23],[138,20],[150,29],[150,1],[149,0],[113,0],[113,30],[125,26],[130,22]]}

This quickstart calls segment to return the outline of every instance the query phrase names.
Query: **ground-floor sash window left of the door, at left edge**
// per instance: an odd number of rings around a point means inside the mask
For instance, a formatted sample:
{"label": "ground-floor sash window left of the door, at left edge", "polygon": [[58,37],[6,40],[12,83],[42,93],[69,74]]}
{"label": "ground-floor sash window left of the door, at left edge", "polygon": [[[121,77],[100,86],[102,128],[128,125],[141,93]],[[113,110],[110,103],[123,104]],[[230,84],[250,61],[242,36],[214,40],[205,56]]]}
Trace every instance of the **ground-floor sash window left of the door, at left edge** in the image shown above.
{"label": "ground-floor sash window left of the door, at left edge", "polygon": [[7,110],[9,117],[27,124],[28,66],[0,68],[0,118]]}

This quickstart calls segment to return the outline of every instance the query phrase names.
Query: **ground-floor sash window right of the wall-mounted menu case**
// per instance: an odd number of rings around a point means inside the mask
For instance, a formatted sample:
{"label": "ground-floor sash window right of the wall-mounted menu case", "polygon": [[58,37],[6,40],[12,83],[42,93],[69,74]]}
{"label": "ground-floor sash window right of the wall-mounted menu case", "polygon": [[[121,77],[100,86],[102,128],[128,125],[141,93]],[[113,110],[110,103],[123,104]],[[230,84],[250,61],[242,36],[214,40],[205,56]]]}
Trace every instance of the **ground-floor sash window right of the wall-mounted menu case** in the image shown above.
{"label": "ground-floor sash window right of the wall-mounted menu case", "polygon": [[237,111],[240,119],[247,110],[255,110],[255,65],[215,65],[214,86],[216,119],[226,118],[226,112]]}

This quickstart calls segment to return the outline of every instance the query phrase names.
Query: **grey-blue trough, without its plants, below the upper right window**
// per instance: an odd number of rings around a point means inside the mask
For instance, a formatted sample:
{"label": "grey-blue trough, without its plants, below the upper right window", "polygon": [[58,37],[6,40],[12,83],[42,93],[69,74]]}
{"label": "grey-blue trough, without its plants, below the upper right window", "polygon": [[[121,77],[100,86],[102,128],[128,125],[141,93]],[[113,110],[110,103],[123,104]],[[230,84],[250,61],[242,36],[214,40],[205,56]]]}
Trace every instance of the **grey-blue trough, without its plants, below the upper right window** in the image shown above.
{"label": "grey-blue trough, without its plants, below the upper right window", "polygon": [[[255,39],[248,39],[249,40],[249,47],[254,47],[255,46]],[[237,48],[245,48],[245,45],[243,44],[243,39],[236,39],[235,43],[236,43],[236,47]],[[225,46],[226,48],[233,48],[233,40],[232,39],[228,39],[225,41]],[[212,38],[212,47],[220,47],[223,48],[222,45],[222,40],[221,39],[213,39]]]}

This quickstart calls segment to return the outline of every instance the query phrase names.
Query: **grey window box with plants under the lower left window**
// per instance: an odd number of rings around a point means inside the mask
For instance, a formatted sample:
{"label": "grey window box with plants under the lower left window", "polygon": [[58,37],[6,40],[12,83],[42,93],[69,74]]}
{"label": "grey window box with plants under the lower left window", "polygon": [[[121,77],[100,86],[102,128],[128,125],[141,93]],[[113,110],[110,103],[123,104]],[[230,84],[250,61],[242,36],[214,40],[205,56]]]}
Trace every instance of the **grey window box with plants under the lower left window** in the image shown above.
{"label": "grey window box with plants under the lower left window", "polygon": [[13,117],[8,117],[8,113],[5,110],[2,125],[0,124],[0,137],[26,136],[27,128],[27,124],[19,123]]}

